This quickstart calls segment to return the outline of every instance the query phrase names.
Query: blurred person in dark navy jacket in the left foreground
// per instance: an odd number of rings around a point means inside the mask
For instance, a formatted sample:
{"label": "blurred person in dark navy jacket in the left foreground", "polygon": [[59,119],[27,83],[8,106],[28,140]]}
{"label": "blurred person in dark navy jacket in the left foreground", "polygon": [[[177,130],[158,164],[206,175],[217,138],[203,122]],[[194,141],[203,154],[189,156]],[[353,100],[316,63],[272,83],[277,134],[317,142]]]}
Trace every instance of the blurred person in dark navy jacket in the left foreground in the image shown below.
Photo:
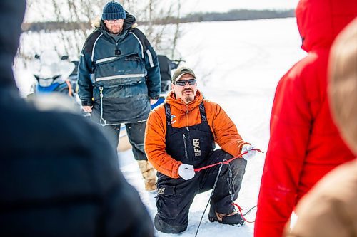
{"label": "blurred person in dark navy jacket in the left foreground", "polygon": [[102,132],[19,97],[11,66],[24,10],[24,0],[0,1],[0,236],[154,236]]}

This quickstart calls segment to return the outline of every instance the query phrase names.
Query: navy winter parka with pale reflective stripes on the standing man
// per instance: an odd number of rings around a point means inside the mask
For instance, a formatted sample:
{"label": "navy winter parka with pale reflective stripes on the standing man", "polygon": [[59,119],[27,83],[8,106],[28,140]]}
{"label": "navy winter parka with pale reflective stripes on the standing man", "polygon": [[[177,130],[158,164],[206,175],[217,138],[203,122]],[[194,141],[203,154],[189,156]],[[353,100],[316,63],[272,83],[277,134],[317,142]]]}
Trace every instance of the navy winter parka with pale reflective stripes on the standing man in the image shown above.
{"label": "navy winter parka with pale reflective stripes on the standing man", "polygon": [[79,97],[93,106],[92,120],[117,125],[147,119],[149,99],[159,98],[159,62],[129,13],[116,39],[104,21],[91,33],[79,60]]}

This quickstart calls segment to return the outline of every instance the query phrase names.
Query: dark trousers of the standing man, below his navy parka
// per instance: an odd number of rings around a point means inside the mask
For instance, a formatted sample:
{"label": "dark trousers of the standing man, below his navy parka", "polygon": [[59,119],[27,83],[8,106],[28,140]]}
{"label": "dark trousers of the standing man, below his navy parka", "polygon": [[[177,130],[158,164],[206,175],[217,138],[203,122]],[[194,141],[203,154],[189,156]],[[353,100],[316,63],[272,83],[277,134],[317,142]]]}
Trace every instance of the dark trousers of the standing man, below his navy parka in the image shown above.
{"label": "dark trousers of the standing man, below his navy parka", "polygon": [[[109,138],[111,144],[117,149],[119,144],[121,125],[106,125],[104,126],[104,132]],[[144,133],[146,127],[146,121],[144,122],[131,122],[126,123],[126,134],[129,138],[129,143],[133,149],[134,159],[136,160],[148,160],[144,150]]]}

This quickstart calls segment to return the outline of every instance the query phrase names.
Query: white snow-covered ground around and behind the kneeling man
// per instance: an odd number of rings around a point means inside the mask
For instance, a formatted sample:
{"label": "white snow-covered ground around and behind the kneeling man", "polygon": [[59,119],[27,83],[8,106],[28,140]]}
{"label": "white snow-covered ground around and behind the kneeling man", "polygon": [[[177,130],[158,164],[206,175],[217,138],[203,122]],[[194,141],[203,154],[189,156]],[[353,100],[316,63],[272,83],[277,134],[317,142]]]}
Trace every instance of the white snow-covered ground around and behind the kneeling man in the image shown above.
{"label": "white snow-covered ground around and behind the kneeling man", "polygon": [[[185,23],[178,42],[185,65],[193,68],[205,98],[218,102],[236,123],[243,139],[266,151],[273,95],[283,73],[302,58],[296,19]],[[21,93],[29,90],[25,71],[15,68]],[[27,75],[31,73],[27,72]],[[248,162],[238,203],[243,211],[256,206],[264,154]],[[139,167],[131,151],[120,153],[121,169],[136,187],[149,213],[156,213],[155,194],[144,191]],[[188,229],[179,235],[156,232],[156,236],[194,236],[210,192],[196,196]],[[253,221],[256,209],[246,216]],[[198,236],[253,236],[253,223],[226,226],[210,223],[206,212]]]}

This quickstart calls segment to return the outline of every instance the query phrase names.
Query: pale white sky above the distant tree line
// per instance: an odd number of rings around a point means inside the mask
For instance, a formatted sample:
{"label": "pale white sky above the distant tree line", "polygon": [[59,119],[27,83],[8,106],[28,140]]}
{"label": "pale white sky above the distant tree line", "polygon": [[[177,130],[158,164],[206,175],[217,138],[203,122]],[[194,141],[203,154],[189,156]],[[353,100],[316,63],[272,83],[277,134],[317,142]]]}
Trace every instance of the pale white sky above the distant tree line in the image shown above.
{"label": "pale white sky above the distant tree line", "polygon": [[295,9],[298,0],[184,0],[183,14],[195,11],[229,11],[231,9]]}

